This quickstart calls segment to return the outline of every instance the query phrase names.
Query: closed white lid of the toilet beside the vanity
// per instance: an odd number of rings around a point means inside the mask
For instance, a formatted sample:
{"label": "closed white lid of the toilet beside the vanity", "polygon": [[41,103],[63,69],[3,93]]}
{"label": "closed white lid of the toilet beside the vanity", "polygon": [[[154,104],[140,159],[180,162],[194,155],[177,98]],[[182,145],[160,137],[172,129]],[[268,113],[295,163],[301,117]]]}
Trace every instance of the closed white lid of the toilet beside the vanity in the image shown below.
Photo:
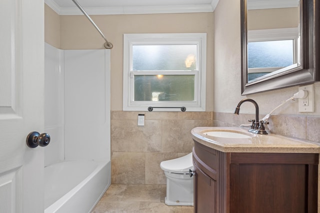
{"label": "closed white lid of the toilet beside the vanity", "polygon": [[193,168],[192,153],[189,153],[183,157],[175,158],[168,161],[162,161],[160,163],[162,170],[168,172],[188,172]]}

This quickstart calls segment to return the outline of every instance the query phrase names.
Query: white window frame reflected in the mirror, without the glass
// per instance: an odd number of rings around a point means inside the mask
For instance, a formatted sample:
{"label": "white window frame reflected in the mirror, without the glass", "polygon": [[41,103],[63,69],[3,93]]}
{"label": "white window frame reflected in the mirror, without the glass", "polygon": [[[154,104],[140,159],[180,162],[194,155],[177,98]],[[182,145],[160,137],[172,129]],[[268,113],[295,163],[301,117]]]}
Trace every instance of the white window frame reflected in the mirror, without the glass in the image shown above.
{"label": "white window frame reflected in the mirror, without the glass", "polygon": [[[276,29],[258,29],[248,30],[247,42],[254,41],[274,41],[274,40],[293,40],[293,65],[297,67],[300,65],[300,48],[298,42],[300,41],[300,30],[299,27],[289,28],[276,28]],[[248,73],[257,72],[273,72],[282,67],[271,67],[271,68],[248,68]]]}

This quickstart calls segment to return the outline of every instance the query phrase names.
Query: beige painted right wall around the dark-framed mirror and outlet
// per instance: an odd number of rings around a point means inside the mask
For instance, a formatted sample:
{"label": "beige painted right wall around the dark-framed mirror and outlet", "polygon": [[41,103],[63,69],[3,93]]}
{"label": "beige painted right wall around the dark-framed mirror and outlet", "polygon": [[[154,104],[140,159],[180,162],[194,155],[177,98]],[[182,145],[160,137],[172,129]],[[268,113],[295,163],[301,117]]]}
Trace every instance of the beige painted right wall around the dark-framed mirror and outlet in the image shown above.
{"label": "beige painted right wall around the dark-framed mirror and outlet", "polygon": [[[228,15],[225,15],[225,14]],[[228,27],[225,27],[228,26]],[[240,2],[219,1],[214,11],[214,112],[234,112],[237,103],[254,99],[261,114],[269,113],[277,105],[293,96],[298,87],[289,87],[253,95],[241,96]],[[274,114],[299,116],[320,115],[320,83],[314,84],[315,112],[299,113],[297,101],[292,101]],[[243,104],[240,113],[253,113],[252,104]],[[319,140],[320,141],[320,140]]]}

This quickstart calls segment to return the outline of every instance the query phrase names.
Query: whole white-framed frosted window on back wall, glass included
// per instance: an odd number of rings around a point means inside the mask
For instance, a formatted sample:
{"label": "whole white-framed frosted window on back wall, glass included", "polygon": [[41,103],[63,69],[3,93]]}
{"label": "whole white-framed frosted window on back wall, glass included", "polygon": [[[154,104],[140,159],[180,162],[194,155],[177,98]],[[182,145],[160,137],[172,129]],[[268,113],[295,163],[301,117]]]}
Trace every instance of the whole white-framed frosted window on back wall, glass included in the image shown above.
{"label": "whole white-framed frosted window on back wall, glass included", "polygon": [[205,111],[205,33],[124,34],[123,41],[124,111]]}

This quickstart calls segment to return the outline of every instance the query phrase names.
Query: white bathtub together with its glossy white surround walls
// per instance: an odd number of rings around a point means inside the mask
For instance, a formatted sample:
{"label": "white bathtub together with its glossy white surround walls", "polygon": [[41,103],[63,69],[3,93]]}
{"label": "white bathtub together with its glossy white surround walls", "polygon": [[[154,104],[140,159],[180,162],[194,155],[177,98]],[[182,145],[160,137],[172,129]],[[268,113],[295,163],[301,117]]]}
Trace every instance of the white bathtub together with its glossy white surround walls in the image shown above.
{"label": "white bathtub together with its glossy white surround walls", "polygon": [[88,213],[110,186],[109,60],[45,44],[45,213]]}

